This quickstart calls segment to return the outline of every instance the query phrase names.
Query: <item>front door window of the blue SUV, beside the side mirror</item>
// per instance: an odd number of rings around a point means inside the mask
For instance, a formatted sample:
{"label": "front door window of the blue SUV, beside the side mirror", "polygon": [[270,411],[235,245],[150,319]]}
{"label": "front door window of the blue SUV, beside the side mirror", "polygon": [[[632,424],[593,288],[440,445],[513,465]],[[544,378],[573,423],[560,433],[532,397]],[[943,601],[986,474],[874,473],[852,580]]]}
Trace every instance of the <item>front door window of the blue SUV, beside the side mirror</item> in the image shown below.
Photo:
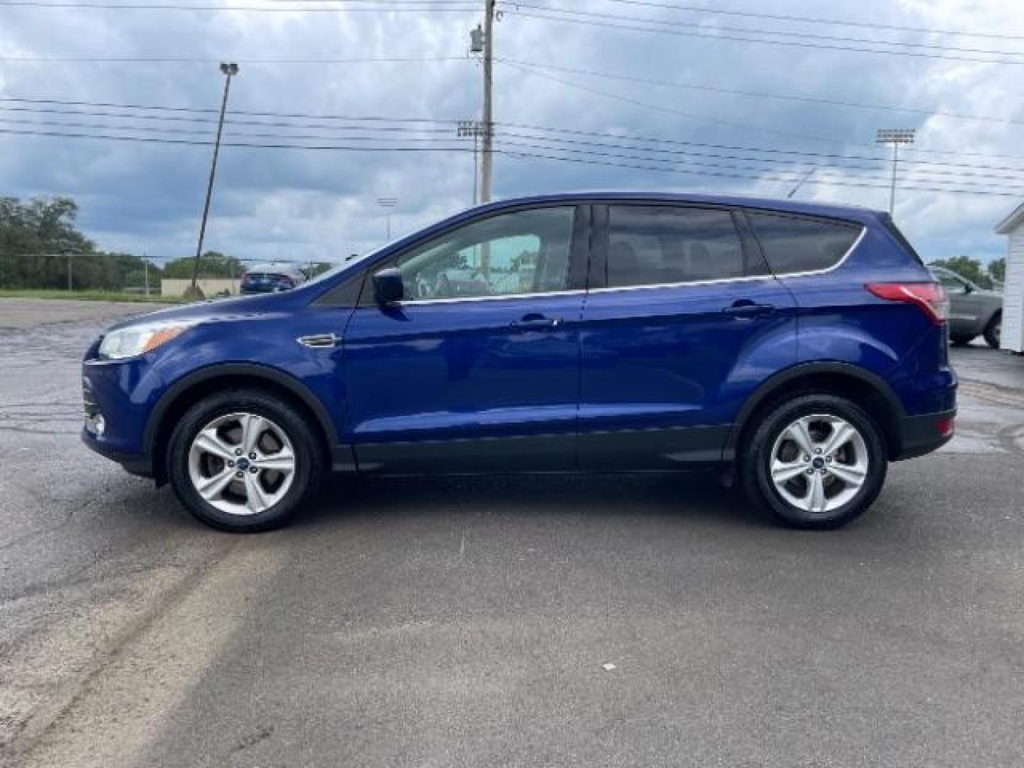
{"label": "front door window of the blue SUV, beside the side mirror", "polygon": [[568,286],[572,207],[474,221],[402,254],[407,300],[510,296]]}

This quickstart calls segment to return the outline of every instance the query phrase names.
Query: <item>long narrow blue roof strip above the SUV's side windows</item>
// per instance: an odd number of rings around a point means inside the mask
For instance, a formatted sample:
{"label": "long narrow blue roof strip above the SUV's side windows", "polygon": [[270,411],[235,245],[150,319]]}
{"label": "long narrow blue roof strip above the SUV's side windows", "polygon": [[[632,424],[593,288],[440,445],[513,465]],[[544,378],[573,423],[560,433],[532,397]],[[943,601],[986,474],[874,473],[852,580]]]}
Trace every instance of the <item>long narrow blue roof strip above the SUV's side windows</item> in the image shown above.
{"label": "long narrow blue roof strip above the SUV's side windows", "polygon": [[878,215],[877,211],[861,206],[834,205],[829,203],[807,203],[787,199],[754,198],[740,195],[701,195],[691,193],[653,193],[627,190],[593,190],[575,193],[556,193],[551,195],[534,195],[519,198],[507,198],[477,206],[473,211],[500,210],[519,205],[541,205],[545,203],[574,202],[651,202],[651,203],[692,203],[699,205],[741,206],[744,208],[762,208],[781,213],[798,213],[809,216],[827,216],[865,221]]}

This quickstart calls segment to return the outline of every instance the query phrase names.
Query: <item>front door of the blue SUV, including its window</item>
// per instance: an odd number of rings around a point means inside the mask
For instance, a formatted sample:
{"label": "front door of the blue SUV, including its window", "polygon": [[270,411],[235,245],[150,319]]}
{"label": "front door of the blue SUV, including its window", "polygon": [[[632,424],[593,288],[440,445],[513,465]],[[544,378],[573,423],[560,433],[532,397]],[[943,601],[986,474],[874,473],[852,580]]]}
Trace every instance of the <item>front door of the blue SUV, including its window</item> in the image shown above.
{"label": "front door of the blue SUV, including its window", "polygon": [[398,267],[406,297],[377,304],[368,276],[345,331],[360,470],[574,465],[588,214],[492,214],[371,268]]}

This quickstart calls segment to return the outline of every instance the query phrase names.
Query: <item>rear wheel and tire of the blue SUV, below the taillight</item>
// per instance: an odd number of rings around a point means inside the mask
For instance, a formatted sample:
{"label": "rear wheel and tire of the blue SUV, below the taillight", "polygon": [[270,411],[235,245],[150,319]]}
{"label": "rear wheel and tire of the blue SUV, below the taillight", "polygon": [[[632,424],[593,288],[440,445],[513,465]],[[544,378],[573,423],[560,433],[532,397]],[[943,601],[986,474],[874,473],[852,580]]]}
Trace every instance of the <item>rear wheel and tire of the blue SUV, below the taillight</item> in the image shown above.
{"label": "rear wheel and tire of the blue SUV, below the taillight", "polygon": [[[798,424],[805,427],[803,436]],[[829,447],[829,438],[847,434],[845,427],[853,433]],[[862,408],[845,397],[805,394],[778,403],[760,417],[740,453],[743,489],[785,525],[841,527],[863,514],[882,490],[888,470],[882,433]],[[810,451],[800,449],[791,435]],[[778,485],[772,477],[775,459]],[[815,473],[808,475],[808,469]],[[784,479],[786,473],[790,479]]]}

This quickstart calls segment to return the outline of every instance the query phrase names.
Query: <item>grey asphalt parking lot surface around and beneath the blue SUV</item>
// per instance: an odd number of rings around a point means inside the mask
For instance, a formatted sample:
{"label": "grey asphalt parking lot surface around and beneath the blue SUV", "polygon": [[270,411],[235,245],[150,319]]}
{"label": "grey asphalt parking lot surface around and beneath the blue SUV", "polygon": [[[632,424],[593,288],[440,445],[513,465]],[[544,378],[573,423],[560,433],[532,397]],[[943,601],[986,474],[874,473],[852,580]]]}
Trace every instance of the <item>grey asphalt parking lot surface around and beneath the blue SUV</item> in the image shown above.
{"label": "grey asphalt parking lot surface around and beneath the blue SUV", "polygon": [[953,350],[957,437],[839,531],[618,475],[333,482],[234,537],[79,442],[138,309],[0,300],[0,760],[1024,762],[1024,358]]}

